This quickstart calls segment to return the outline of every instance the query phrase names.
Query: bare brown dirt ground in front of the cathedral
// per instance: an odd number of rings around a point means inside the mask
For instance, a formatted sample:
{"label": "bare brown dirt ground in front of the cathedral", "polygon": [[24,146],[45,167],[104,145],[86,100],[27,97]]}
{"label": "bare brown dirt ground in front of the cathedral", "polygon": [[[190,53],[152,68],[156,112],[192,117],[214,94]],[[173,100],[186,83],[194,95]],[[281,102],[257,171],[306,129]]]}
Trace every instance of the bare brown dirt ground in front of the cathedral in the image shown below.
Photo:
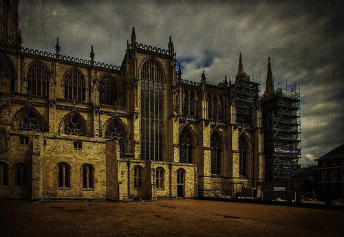
{"label": "bare brown dirt ground in front of the cathedral", "polygon": [[344,212],[202,200],[0,201],[0,236],[344,236]]}

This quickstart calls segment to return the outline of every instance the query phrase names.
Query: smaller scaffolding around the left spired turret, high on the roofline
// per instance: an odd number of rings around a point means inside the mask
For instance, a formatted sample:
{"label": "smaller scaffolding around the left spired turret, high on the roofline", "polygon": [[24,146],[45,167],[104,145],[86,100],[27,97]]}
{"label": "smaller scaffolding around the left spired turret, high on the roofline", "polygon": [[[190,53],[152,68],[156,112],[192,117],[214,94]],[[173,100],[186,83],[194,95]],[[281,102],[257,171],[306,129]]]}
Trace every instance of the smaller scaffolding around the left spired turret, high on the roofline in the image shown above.
{"label": "smaller scaffolding around the left spired turret, high on the roofline", "polygon": [[260,82],[239,78],[233,84],[233,97],[237,105],[237,122],[252,124],[252,106],[259,93]]}

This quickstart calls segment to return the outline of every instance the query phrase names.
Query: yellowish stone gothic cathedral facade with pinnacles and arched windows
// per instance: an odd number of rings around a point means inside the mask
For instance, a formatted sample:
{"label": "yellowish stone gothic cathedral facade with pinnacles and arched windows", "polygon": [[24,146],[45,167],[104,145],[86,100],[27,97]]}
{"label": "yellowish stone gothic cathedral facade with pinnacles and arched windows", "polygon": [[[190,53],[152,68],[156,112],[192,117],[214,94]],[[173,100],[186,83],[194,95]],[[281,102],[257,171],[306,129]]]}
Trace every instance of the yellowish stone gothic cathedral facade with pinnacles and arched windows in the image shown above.
{"label": "yellowish stone gothic cathedral facade with pinnacles and arched windows", "polygon": [[[22,48],[1,1],[0,198],[123,200],[255,195],[264,181],[259,84],[184,80],[167,49],[136,42],[120,67]],[[61,45],[63,47],[63,45]]]}

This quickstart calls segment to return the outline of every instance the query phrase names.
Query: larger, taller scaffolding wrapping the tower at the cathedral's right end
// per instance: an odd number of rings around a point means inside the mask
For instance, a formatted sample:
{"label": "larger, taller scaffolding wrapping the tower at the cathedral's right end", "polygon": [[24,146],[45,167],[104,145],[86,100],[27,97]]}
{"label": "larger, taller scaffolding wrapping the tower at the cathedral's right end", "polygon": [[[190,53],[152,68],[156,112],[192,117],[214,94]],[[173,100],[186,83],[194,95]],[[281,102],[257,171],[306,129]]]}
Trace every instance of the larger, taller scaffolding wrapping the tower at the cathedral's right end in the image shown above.
{"label": "larger, taller scaffolding wrapping the tower at the cathedral's right end", "polygon": [[300,87],[280,84],[262,98],[266,181],[296,177],[301,167]]}

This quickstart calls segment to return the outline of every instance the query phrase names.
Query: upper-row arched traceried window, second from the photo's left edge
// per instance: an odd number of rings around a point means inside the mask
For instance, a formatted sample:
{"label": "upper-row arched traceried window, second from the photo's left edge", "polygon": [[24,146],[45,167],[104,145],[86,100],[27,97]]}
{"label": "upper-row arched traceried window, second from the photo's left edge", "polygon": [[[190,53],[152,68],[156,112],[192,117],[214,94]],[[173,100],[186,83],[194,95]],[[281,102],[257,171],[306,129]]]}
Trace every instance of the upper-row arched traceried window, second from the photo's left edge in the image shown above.
{"label": "upper-row arched traceried window, second from the photo's left edge", "polygon": [[49,70],[43,63],[37,62],[28,71],[28,93],[31,95],[49,95]]}

